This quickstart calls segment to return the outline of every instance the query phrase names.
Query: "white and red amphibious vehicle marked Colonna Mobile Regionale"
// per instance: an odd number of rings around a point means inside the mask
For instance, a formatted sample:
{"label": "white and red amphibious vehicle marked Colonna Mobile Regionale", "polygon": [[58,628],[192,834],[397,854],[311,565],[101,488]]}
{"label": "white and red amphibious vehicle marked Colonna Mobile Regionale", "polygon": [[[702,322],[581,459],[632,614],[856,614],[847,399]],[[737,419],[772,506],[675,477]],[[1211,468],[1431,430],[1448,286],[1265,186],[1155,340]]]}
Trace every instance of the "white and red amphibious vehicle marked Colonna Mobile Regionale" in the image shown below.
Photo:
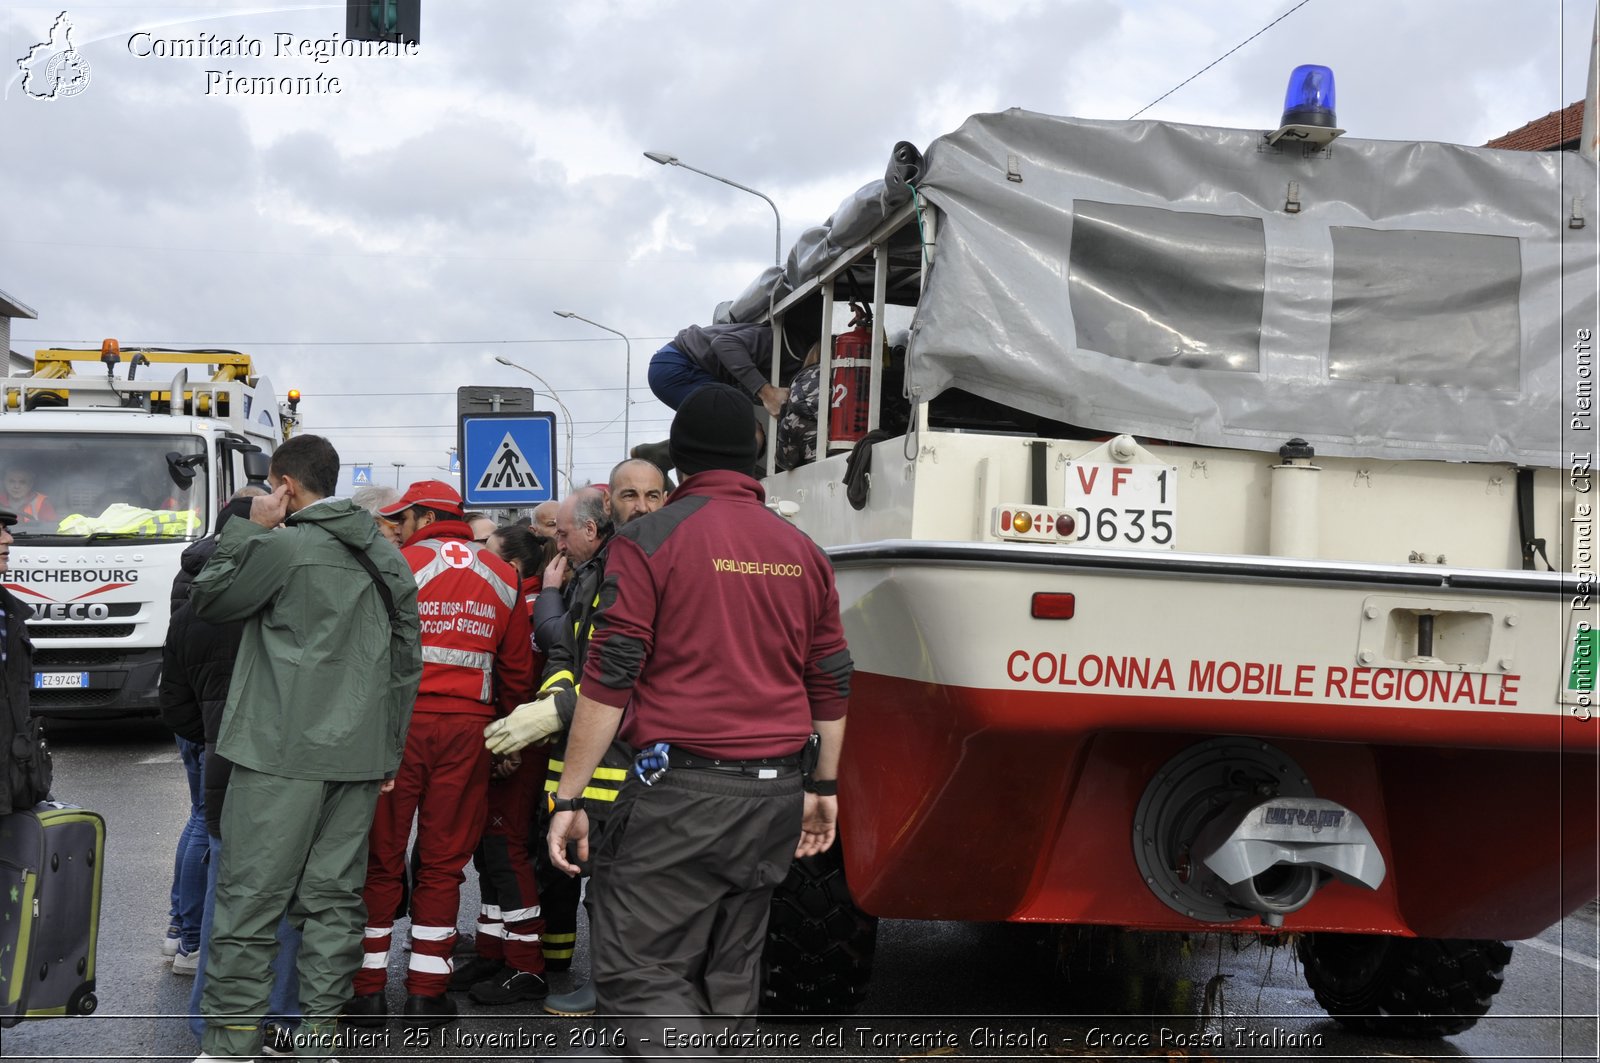
{"label": "white and red amphibious vehicle marked Colonna Mobile Regionale", "polygon": [[870,916],[1016,921],[1294,933],[1336,1018],[1448,1034],[1595,897],[1595,163],[1331,104],[974,115],[718,307],[786,379],[872,333],[765,480],[856,660],[770,1007],[856,1004]]}

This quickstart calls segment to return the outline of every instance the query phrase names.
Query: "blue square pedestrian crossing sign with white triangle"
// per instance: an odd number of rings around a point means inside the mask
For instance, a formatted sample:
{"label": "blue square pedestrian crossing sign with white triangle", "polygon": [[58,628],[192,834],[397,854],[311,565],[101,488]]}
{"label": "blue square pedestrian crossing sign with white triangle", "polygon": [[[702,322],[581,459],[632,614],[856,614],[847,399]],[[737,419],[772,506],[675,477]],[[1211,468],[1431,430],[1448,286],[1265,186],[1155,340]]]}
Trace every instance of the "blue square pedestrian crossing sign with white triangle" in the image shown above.
{"label": "blue square pedestrian crossing sign with white triangle", "polygon": [[469,506],[536,506],[555,498],[554,413],[464,413],[461,499]]}

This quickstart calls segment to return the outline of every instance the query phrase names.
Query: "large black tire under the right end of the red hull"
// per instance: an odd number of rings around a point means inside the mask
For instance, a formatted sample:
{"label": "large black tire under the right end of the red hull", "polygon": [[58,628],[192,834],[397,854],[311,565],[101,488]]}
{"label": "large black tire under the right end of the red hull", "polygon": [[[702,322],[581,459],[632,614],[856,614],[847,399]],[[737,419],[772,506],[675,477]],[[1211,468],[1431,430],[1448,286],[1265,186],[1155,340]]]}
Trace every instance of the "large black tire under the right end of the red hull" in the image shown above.
{"label": "large black tire under the right end of the red hull", "polygon": [[1504,941],[1307,933],[1298,945],[1317,1004],[1346,1026],[1446,1037],[1474,1026],[1506,980]]}

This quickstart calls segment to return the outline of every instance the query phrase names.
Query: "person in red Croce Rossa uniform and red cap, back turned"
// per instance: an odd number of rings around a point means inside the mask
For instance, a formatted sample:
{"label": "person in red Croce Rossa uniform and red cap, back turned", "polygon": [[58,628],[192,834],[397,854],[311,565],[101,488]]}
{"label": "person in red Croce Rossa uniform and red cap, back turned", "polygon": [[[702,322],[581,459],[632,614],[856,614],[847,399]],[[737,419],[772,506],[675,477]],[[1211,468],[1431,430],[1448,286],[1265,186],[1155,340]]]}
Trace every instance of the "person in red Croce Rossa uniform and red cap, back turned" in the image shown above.
{"label": "person in red Croce Rossa uniform and red cap, back turned", "polygon": [[472,541],[453,487],[413,483],[378,512],[398,523],[400,552],[416,576],[422,685],[395,786],[373,818],[363,892],[366,948],[346,1021],[381,1025],[387,1015],[390,930],[414,815],[421,868],[411,890],[405,1017],[413,1025],[440,1025],[456,1013],[445,988],[462,869],[488,815],[483,727],[533,695],[533,642],[517,573]]}

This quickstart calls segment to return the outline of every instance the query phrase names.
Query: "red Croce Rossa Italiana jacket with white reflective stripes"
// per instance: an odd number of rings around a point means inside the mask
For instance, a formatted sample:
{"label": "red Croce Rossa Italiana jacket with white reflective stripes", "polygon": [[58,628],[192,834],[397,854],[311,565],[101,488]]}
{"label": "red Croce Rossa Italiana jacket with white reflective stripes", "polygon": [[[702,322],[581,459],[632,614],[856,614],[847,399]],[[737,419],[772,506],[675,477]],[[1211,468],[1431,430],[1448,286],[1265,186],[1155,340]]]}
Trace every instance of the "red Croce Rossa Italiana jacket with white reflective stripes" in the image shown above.
{"label": "red Croce Rossa Italiana jacket with white reflective stripes", "polygon": [[506,716],[533,698],[528,607],[512,567],[472,541],[461,520],[435,520],[400,549],[416,576],[422,623],[418,712]]}

